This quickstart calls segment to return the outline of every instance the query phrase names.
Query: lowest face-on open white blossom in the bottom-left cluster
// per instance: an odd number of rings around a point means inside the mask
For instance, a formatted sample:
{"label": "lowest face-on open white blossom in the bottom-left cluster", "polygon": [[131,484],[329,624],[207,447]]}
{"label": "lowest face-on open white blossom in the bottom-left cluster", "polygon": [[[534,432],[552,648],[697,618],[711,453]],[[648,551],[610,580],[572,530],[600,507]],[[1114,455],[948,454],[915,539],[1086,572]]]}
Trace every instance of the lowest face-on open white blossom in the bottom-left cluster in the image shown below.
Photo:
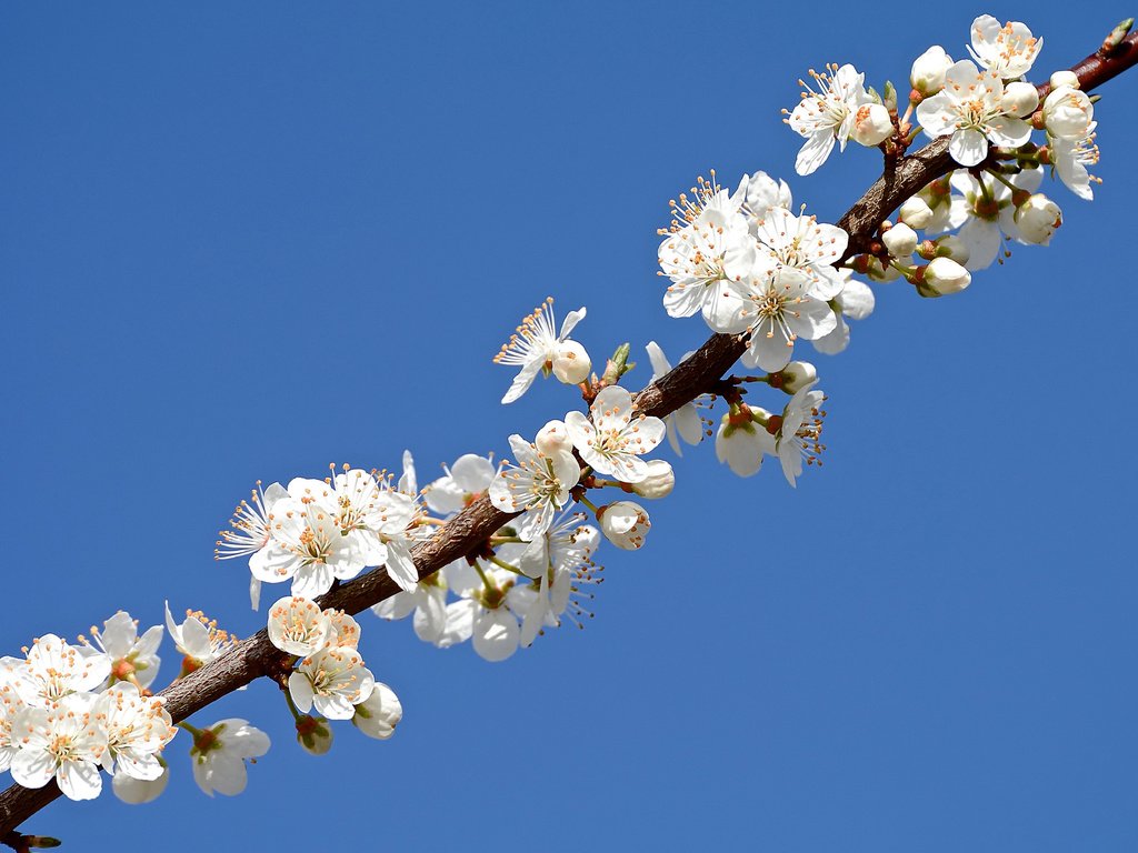
{"label": "lowest face-on open white blossom in the bottom-left cluster", "polygon": [[68,800],[94,800],[102,790],[99,762],[107,739],[94,714],[93,694],[75,694],[50,707],[28,707],[13,727],[19,751],[11,778],[25,788],[42,788],[52,779]]}

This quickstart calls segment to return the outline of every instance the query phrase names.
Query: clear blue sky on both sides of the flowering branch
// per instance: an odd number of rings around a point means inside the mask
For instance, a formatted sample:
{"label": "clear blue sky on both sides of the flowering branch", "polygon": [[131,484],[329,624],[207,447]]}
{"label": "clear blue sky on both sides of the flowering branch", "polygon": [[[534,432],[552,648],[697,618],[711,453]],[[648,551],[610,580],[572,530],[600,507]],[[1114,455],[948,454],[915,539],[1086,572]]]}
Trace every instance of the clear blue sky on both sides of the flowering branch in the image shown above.
{"label": "clear blue sky on both sides of the flowering branch", "polygon": [[[965,56],[984,11],[1045,36],[1042,76],[1136,11],[1046,6],[5,5],[2,651],[164,598],[253,632],[246,570],[212,548],[254,480],[501,455],[575,406],[555,383],[497,404],[489,357],[546,295],[588,306],[595,358],[693,348],[702,323],[660,306],[669,197],[765,168],[834,221],[879,157],[797,179],[795,78],[904,80],[932,41]],[[204,797],[183,736],[157,803],[60,801],[27,829],[171,853],[1135,850],[1136,94],[1138,73],[1104,90],[1106,183],[1054,187],[1053,248],[958,297],[879,288],[818,357],[830,449],[797,491],[706,445],[643,553],[602,553],[587,630],[492,665],[365,614],[394,739],[341,727],[308,756],[257,684],[196,718],[272,735],[245,795]]]}

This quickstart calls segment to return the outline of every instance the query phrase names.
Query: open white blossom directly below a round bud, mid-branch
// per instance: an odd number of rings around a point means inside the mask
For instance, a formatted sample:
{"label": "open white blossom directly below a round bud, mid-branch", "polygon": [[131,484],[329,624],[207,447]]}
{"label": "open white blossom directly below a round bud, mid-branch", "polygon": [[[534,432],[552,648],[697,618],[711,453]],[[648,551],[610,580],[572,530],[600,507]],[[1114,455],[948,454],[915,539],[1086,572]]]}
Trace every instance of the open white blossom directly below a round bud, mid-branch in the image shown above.
{"label": "open white blossom directly below a round bud, mid-branch", "polygon": [[580,465],[564,450],[543,453],[521,436],[510,436],[516,465],[506,465],[490,483],[490,503],[508,513],[521,513],[513,522],[526,541],[549,530],[553,515],[569,500],[569,490],[580,479]]}

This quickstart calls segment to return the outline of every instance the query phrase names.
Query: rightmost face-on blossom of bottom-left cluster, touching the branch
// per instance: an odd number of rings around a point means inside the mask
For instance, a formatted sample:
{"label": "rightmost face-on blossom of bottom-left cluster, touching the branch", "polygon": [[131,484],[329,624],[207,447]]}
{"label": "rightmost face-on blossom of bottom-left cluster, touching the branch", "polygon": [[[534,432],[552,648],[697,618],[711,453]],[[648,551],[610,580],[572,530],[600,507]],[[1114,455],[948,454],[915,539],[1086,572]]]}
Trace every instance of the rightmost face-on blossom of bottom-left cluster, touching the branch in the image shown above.
{"label": "rightmost face-on blossom of bottom-left cluster, touching the branch", "polygon": [[162,776],[158,754],[178,734],[162,697],[142,696],[134,685],[117,684],[96,699],[92,713],[106,737],[102,767],[108,773],[147,781]]}

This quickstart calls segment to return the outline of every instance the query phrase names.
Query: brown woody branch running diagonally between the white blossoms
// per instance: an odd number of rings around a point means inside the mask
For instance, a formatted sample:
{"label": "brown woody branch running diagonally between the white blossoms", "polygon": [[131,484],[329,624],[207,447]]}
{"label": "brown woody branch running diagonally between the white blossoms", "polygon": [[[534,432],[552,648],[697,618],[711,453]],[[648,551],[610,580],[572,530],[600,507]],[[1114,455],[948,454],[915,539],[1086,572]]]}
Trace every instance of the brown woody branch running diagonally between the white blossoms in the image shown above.
{"label": "brown woody branch running diagonally between the white blossoms", "polygon": [[[1138,32],[1128,35],[1111,51],[1091,53],[1071,71],[1079,75],[1082,89],[1090,90],[1135,64],[1138,64]],[[1041,93],[1047,91],[1046,85],[1039,89]],[[920,151],[901,158],[888,181],[879,179],[839,220],[838,224],[850,235],[849,254],[863,251],[881,222],[902,201],[954,168],[947,138],[933,140]],[[640,391],[635,397],[637,408],[655,416],[675,412],[712,387],[745,348],[742,337],[711,336],[690,358]],[[473,552],[511,517],[512,514],[492,506],[485,496],[479,498],[439,528],[434,537],[415,546],[412,554],[419,577],[427,578]],[[318,602],[322,607],[355,614],[398,591],[387,572],[373,570],[332,589]],[[222,657],[175,681],[160,695],[166,697],[166,709],[178,722],[254,679],[279,674],[287,666],[287,655],[273,647],[262,629]],[[55,781],[36,789],[13,785],[0,793],[0,838],[14,833],[59,794]]]}

